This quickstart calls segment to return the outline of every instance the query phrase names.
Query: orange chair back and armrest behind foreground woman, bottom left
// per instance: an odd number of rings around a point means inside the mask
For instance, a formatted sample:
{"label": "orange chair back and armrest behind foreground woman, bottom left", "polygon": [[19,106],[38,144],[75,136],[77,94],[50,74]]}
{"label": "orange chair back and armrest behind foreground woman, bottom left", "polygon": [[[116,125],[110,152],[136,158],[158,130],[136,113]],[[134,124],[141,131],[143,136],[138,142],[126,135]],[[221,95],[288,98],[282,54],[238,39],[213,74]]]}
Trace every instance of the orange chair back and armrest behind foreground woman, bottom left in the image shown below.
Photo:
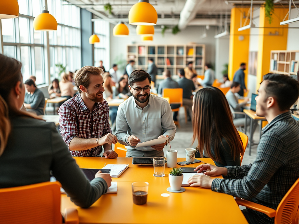
{"label": "orange chair back and armrest behind foreground woman, bottom left", "polygon": [[[61,224],[60,187],[59,182],[43,182],[0,189],[0,223]],[[65,209],[65,223],[79,223],[77,209]]]}

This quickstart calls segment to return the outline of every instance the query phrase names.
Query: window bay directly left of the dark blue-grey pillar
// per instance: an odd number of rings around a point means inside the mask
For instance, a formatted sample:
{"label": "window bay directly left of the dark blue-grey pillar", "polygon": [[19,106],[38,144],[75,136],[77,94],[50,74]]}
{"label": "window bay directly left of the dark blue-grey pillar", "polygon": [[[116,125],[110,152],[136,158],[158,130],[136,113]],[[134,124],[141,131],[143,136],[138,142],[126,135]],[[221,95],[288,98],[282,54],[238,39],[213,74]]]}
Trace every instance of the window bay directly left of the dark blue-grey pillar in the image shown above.
{"label": "window bay directly left of the dark blue-grey pillar", "polygon": [[66,1],[48,0],[48,10],[58,22],[57,32],[49,33],[51,80],[58,78],[56,66],[67,71],[81,68],[80,8]]}

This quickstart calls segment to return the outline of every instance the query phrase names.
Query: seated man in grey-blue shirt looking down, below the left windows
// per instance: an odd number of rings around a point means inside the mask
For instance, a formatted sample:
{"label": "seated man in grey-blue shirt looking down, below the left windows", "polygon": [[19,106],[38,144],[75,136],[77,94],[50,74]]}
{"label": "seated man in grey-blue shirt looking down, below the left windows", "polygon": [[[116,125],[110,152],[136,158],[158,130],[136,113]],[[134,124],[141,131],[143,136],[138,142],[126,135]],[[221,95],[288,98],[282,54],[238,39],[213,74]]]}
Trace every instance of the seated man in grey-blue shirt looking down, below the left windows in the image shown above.
{"label": "seated man in grey-blue shirt looking down, below the left windows", "polygon": [[36,115],[44,115],[44,93],[36,87],[32,79],[25,81],[25,88],[27,93],[25,94],[24,106],[27,111]]}

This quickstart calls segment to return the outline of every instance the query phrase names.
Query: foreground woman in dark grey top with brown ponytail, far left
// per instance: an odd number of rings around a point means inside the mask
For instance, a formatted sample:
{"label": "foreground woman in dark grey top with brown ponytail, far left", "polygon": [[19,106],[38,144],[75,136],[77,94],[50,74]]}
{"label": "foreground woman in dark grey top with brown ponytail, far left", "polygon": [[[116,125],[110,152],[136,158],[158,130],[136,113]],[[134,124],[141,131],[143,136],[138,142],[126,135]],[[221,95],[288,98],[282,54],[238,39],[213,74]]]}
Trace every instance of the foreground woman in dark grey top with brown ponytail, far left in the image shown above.
{"label": "foreground woman in dark grey top with brown ponytail, far left", "polygon": [[71,200],[87,208],[107,191],[110,174],[99,171],[89,182],[55,124],[19,111],[25,97],[21,67],[0,54],[0,188],[46,182],[52,171]]}

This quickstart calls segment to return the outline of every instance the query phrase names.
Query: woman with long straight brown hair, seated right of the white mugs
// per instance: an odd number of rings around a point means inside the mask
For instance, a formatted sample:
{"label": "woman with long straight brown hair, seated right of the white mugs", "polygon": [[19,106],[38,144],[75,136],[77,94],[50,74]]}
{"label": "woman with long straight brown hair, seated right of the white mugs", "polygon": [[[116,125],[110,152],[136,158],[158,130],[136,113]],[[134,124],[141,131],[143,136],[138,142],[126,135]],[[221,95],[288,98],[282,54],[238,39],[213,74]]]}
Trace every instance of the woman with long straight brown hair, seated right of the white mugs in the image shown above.
{"label": "woman with long straight brown hair, seated right of the white mugs", "polygon": [[244,154],[241,138],[234,126],[228,102],[221,90],[206,87],[193,97],[193,139],[198,140],[201,156],[216,166],[239,166]]}

